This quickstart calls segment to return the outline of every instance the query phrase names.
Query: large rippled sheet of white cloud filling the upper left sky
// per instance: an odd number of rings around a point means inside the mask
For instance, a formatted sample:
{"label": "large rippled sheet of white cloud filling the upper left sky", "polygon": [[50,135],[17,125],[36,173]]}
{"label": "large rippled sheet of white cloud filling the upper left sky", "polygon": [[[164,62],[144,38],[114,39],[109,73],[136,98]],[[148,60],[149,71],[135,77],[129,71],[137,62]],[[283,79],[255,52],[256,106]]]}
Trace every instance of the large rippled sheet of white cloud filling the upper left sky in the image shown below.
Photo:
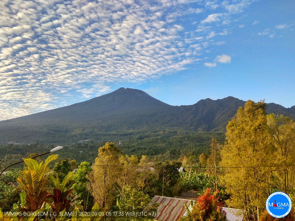
{"label": "large rippled sheet of white cloud filling the upper left sky", "polygon": [[[114,83],[143,83],[195,64],[224,44],[215,38],[227,29],[214,25],[229,23],[233,6],[192,2],[1,2],[0,120],[59,107],[71,93],[72,102],[81,101]],[[224,13],[210,14],[217,8]]]}

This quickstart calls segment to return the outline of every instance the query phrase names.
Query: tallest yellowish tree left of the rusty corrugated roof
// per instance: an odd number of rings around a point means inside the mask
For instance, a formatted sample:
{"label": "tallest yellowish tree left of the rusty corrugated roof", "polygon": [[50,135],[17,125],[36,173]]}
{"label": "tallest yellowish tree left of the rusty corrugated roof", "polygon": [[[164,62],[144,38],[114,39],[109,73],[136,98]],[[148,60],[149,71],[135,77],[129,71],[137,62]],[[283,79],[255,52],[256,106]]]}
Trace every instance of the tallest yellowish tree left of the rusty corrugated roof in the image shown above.
{"label": "tallest yellowish tree left of the rusty corrugated roof", "polygon": [[120,149],[114,143],[107,142],[98,150],[92,166],[93,171],[89,173],[91,192],[100,206],[112,205],[114,200],[114,184],[121,176],[121,168],[118,166]]}

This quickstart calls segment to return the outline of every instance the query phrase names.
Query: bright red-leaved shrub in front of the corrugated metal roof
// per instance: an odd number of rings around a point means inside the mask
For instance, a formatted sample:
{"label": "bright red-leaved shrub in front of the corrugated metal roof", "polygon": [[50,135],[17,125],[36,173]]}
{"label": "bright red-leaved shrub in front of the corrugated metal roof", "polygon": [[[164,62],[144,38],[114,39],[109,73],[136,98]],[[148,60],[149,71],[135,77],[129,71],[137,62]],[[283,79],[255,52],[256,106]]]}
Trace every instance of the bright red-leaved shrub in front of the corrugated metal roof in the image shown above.
{"label": "bright red-leaved shrub in front of the corrugated metal roof", "polygon": [[211,194],[210,188],[199,196],[191,213],[182,217],[181,221],[226,221],[226,213],[218,203],[219,191]]}

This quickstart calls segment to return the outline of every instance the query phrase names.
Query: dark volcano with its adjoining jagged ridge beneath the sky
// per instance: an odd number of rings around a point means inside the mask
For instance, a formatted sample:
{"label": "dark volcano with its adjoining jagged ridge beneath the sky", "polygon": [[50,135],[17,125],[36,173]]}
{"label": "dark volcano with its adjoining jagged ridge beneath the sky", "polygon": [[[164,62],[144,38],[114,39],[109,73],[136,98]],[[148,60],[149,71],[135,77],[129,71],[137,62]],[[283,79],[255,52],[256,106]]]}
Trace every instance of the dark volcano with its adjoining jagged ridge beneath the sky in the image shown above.
{"label": "dark volcano with its adjoining jagged ridge beneath the sky", "polygon": [[[102,133],[182,129],[224,131],[245,101],[229,96],[199,100],[193,105],[166,104],[142,90],[119,88],[111,93],[65,107],[0,121],[0,143],[39,140],[71,142],[100,137]],[[293,108],[294,107],[294,108]],[[268,113],[295,118],[295,106],[267,104]]]}

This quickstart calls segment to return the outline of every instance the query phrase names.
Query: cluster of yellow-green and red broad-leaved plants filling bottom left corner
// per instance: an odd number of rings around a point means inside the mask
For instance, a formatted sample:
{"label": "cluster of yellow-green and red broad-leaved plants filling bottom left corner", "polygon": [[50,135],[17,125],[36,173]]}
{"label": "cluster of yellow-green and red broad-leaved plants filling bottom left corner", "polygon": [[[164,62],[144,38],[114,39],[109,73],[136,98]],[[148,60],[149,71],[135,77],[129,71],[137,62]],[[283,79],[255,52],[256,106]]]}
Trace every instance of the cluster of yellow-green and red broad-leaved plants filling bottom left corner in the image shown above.
{"label": "cluster of yellow-green and red broad-leaved plants filling bottom left corner", "polygon": [[97,221],[105,217],[106,213],[99,213],[99,206],[96,203],[89,213],[85,213],[81,204],[74,203],[76,196],[71,194],[73,192],[71,186],[74,182],[73,172],[68,172],[60,181],[59,174],[48,167],[48,164],[57,158],[58,155],[50,155],[45,162],[40,163],[35,159],[24,159],[26,170],[17,178],[22,189],[19,195],[20,201],[13,205],[13,210],[9,213],[1,212],[0,220]]}

